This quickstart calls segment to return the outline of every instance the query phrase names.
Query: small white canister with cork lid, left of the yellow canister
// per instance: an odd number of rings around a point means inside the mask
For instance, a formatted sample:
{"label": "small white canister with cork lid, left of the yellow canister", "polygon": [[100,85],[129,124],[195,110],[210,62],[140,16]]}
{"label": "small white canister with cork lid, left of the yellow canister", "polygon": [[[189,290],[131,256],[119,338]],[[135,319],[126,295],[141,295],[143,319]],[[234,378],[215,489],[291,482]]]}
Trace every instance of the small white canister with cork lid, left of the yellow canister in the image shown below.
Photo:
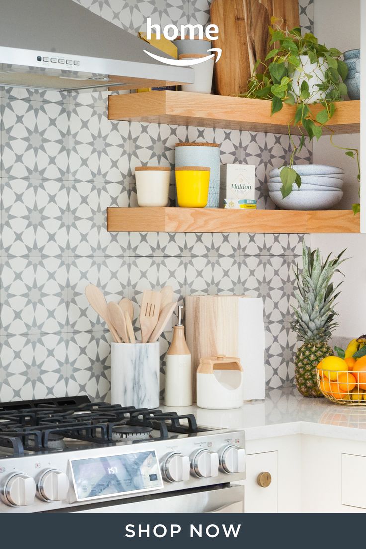
{"label": "small white canister with cork lid, left of the yellow canister", "polygon": [[168,204],[170,167],[136,166],[137,203],[141,208]]}

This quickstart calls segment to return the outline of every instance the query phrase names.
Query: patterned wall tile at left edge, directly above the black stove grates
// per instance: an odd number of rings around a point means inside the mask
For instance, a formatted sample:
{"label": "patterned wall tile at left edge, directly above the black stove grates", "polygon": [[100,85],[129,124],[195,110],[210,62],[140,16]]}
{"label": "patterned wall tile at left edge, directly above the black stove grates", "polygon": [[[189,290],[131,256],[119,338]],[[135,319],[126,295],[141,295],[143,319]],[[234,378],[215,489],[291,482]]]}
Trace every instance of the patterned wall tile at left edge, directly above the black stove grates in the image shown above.
{"label": "patterned wall tile at left edge, directly above the black stove grates", "polygon": [[1,337],[0,358],[0,401],[66,396],[64,335]]}

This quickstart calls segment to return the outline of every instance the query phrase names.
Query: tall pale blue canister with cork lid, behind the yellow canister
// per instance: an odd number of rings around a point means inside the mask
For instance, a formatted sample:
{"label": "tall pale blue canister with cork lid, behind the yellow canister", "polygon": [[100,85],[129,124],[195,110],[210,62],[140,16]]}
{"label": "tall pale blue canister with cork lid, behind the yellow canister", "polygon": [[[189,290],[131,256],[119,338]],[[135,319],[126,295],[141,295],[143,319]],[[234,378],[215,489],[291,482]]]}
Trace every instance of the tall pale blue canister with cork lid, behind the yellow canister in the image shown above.
{"label": "tall pale blue canister with cork lid, behind the yellow canister", "polygon": [[210,168],[209,200],[206,208],[218,208],[220,198],[219,143],[176,143],[176,166],[208,166]]}

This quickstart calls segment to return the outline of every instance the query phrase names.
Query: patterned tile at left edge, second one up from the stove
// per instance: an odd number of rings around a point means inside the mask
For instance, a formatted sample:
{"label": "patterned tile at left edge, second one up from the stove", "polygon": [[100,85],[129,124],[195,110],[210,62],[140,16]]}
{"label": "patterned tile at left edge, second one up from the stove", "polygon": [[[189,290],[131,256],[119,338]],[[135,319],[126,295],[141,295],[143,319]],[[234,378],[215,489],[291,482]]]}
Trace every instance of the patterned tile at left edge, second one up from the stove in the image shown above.
{"label": "patterned tile at left edge, second one up from the stove", "polygon": [[2,264],[1,333],[67,330],[67,258],[9,257]]}

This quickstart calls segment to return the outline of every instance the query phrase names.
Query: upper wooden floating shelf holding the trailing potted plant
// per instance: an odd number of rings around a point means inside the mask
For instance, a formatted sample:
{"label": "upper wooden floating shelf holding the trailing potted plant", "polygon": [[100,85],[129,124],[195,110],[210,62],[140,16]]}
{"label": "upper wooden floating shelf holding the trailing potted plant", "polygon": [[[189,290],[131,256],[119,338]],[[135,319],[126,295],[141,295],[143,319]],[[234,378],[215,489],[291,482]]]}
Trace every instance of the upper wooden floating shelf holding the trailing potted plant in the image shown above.
{"label": "upper wooden floating shelf holding the trailing potted plant", "polygon": [[[324,133],[358,133],[359,101],[336,104],[329,131]],[[314,113],[323,109],[313,105]],[[283,110],[271,116],[271,103],[260,99],[212,96],[204,93],[153,91],[110,96],[109,120],[156,122],[180,126],[229,128],[255,132],[288,133],[288,123],[294,117],[295,107],[284,105]],[[294,127],[291,132],[298,134]]]}

